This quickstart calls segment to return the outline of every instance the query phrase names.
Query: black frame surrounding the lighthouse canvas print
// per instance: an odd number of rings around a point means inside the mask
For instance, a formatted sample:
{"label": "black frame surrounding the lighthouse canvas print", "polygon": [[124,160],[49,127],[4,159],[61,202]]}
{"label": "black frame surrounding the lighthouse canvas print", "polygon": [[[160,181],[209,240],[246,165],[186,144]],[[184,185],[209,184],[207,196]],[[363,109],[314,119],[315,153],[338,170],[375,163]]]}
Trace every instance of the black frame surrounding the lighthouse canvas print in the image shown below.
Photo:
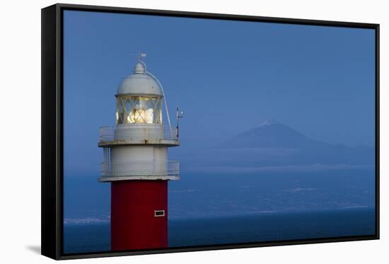
{"label": "black frame surrounding the lighthouse canvas print", "polygon": [[[63,252],[63,12],[98,11],[109,13],[129,13],[150,16],[175,16],[185,18],[209,18],[233,21],[257,21],[302,25],[323,25],[346,28],[370,28],[376,32],[376,234],[371,236],[349,236],[329,239],[301,239],[261,243],[228,244],[220,246],[192,246],[144,251],[108,251],[98,253],[64,254]],[[42,255],[56,260],[74,258],[96,258],[108,256],[129,256],[153,253],[174,253],[185,251],[207,251],[229,248],[252,248],[261,246],[282,246],[308,243],[340,241],[362,241],[379,239],[379,43],[380,25],[374,23],[352,23],[339,21],[318,21],[296,18],[272,18],[262,16],[240,16],[219,13],[194,13],[183,11],[163,11],[110,6],[85,6],[74,4],[54,4],[42,8]]]}

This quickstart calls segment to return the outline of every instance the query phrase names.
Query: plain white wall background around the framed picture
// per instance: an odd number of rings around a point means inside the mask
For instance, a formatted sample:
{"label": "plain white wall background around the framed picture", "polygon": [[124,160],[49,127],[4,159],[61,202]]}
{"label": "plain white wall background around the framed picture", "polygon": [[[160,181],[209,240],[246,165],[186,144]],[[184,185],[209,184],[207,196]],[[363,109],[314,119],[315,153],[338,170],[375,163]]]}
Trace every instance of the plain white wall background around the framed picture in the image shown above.
{"label": "plain white wall background around the framed picture", "polygon": [[[381,23],[381,241],[80,260],[83,263],[388,263],[389,8],[364,1],[63,1],[178,11]],[[0,16],[1,263],[46,263],[40,246],[40,8],[54,1],[2,1]],[[386,105],[383,103],[386,101]],[[18,147],[15,147],[18,146]],[[22,150],[23,149],[23,150]],[[21,154],[21,151],[25,153]],[[23,159],[21,159],[23,157]],[[26,157],[30,157],[26,159]]]}

